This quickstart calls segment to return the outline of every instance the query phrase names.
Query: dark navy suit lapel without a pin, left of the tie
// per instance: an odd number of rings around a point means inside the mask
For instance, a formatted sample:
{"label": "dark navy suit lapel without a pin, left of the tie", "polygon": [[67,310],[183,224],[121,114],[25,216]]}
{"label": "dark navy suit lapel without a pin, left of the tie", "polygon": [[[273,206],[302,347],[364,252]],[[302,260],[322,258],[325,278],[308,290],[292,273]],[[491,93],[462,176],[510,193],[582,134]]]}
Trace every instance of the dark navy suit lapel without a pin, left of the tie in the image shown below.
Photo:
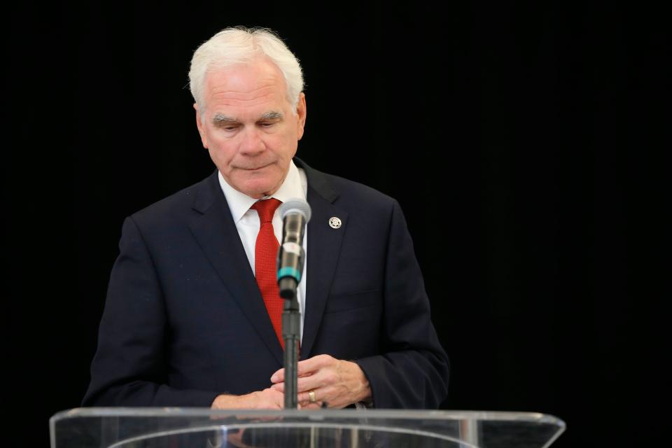
{"label": "dark navy suit lapel without a pin, left of the tie", "polygon": [[194,237],[231,297],[282,365],[282,347],[250,269],[231,211],[219,185],[217,172],[197,192],[193,209],[200,214],[190,223]]}

